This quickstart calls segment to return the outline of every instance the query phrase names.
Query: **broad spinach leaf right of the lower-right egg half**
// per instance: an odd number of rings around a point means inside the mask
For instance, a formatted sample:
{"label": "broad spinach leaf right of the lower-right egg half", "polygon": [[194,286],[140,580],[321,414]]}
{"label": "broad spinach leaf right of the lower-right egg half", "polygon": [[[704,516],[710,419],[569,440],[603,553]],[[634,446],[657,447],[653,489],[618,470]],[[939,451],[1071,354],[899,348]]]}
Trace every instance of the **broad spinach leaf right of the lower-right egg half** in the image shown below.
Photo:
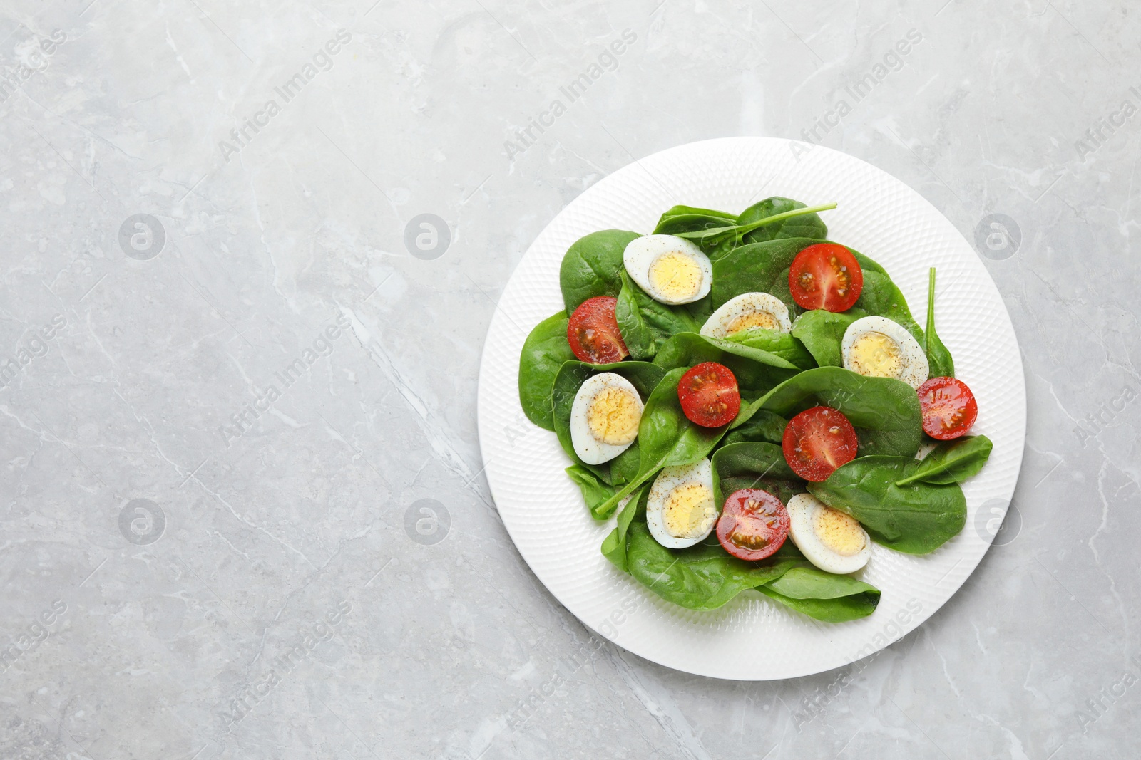
{"label": "broad spinach leaf right of the lower-right egg half", "polygon": [[808,490],[858,520],[877,542],[906,554],[929,554],[963,530],[966,499],[956,483],[896,484],[919,466],[908,457],[858,457],[823,483],[809,483]]}

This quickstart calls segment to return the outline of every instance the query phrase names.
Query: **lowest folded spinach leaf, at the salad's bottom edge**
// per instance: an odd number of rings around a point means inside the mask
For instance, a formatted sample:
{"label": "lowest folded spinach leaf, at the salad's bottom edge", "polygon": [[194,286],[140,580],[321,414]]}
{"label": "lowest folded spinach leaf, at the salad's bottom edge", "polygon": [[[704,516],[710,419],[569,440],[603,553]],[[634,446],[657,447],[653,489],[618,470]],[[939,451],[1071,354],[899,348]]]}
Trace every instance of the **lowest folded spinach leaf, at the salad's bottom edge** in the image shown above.
{"label": "lowest folded spinach leaf, at the salad's bottom edge", "polygon": [[867,618],[880,604],[880,589],[874,586],[811,566],[793,567],[758,590],[796,612],[830,623]]}

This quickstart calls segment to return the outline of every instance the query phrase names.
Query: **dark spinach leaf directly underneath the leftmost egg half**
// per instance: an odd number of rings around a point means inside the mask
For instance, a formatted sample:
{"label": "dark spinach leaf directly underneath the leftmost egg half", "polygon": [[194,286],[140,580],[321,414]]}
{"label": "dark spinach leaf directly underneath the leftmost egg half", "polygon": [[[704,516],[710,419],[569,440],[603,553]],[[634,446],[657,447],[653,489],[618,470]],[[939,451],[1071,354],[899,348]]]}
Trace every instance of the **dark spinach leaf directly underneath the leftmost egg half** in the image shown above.
{"label": "dark spinach leaf directly underneath the leftmost egg half", "polygon": [[[609,461],[600,465],[588,465],[575,453],[574,442],[570,438],[570,409],[574,406],[574,398],[586,378],[597,373],[617,373],[622,375],[638,390],[638,394],[642,398],[644,402],[653,394],[658,381],[662,379],[665,373],[659,367],[655,367],[646,361],[620,361],[613,365],[588,365],[583,361],[567,361],[564,362],[555,376],[555,383],[551,386],[551,408],[555,418],[555,434],[559,439],[559,446],[574,460],[575,465],[593,473],[602,483],[620,485],[629,482],[630,476],[638,472],[638,463],[641,459],[640,451],[638,450],[639,441],[634,441],[629,449]],[[677,389],[677,384],[674,384],[674,389]],[[674,394],[677,394],[677,390],[674,390]],[[573,474],[572,477],[574,477]]]}

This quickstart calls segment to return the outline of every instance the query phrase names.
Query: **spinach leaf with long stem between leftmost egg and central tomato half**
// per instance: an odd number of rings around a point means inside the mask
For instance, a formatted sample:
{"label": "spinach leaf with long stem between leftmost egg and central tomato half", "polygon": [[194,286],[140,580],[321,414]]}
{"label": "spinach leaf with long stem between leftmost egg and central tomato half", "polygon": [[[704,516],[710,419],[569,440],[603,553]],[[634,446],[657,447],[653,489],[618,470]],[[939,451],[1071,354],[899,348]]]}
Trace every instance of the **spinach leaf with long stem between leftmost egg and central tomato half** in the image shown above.
{"label": "spinach leaf with long stem between leftmost egg and central tomato half", "polygon": [[[642,411],[641,424],[638,426],[638,446],[640,448],[638,474],[613,497],[591,509],[591,514],[598,520],[605,520],[614,514],[614,509],[624,496],[632,493],[636,488],[656,475],[662,467],[691,465],[707,456],[728,428],[728,425],[702,427],[689,422],[681,411],[681,402],[678,400],[678,381],[685,374],[685,367],[671,369],[662,377],[662,382],[646,400],[646,409]],[[556,409],[558,409],[557,406]],[[556,411],[557,422],[558,412]]]}

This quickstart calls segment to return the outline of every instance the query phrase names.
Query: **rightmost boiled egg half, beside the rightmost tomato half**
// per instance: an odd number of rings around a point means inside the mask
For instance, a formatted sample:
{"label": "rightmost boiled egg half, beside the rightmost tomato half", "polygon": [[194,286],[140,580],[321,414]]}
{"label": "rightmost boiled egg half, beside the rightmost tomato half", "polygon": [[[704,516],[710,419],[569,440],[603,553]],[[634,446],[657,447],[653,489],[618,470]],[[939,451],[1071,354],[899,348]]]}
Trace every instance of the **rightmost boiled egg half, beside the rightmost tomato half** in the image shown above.
{"label": "rightmost boiled egg half, beside the rightmost tomato half", "polygon": [[919,389],[930,371],[920,342],[887,317],[857,319],[844,330],[840,348],[844,369],[865,377],[893,377]]}

